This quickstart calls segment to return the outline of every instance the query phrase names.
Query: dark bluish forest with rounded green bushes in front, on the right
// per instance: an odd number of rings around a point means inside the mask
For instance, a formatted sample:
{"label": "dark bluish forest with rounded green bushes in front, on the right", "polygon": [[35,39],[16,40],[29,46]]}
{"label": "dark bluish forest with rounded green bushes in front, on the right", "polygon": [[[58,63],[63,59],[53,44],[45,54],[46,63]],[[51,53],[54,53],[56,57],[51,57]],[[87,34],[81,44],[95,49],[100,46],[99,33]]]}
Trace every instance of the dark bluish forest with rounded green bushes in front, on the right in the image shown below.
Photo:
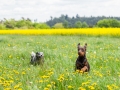
{"label": "dark bluish forest with rounded green bushes in front, on the right", "polygon": [[[53,18],[46,22],[50,27],[64,28],[92,28],[92,27],[120,27],[120,17],[80,17],[78,14],[74,17],[69,17],[68,15],[61,15],[58,18]],[[62,23],[62,24],[61,24]]]}

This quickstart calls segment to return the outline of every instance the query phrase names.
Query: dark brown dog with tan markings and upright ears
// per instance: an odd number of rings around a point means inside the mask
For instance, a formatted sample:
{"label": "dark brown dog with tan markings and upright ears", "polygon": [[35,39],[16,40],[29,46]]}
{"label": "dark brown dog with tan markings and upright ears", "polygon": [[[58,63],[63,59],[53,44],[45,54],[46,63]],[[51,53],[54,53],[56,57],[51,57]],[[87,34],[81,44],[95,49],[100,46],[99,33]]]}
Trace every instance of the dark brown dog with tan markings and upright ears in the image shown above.
{"label": "dark brown dog with tan markings and upright ears", "polygon": [[80,46],[80,43],[78,43],[78,58],[75,63],[75,70],[81,70],[83,72],[89,72],[90,71],[90,65],[86,58],[86,48],[87,43],[85,43],[84,47]]}

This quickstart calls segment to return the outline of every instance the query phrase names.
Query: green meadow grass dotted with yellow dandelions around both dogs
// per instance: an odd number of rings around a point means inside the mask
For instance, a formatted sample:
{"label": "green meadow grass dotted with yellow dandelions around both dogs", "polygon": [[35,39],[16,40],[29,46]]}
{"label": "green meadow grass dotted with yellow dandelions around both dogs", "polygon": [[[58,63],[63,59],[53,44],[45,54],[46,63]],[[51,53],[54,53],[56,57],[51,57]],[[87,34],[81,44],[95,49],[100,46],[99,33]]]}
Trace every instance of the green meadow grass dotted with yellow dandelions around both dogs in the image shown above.
{"label": "green meadow grass dotted with yellow dandelions around both dogs", "polygon": [[[74,71],[79,42],[90,73]],[[43,66],[29,64],[32,51],[44,52]],[[0,90],[119,90],[119,66],[119,37],[0,35]]]}

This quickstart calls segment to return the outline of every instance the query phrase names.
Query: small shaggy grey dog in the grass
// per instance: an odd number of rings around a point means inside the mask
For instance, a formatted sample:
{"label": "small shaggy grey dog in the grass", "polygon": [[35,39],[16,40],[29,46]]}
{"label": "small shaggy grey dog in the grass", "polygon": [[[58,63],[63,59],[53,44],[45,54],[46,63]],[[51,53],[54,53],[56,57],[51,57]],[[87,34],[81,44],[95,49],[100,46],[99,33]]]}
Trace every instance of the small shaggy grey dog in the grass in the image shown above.
{"label": "small shaggy grey dog in the grass", "polygon": [[44,54],[43,52],[32,52],[31,53],[31,60],[30,60],[30,63],[32,65],[43,65],[44,63]]}

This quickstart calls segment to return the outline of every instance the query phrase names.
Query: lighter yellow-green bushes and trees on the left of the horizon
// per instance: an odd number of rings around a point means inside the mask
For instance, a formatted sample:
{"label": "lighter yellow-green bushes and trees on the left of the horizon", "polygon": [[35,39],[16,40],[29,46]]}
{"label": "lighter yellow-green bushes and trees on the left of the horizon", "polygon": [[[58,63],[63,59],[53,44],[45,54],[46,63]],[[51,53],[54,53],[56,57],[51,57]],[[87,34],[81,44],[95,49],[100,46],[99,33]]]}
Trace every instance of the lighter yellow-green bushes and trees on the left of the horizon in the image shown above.
{"label": "lighter yellow-green bushes and trees on the left of the horizon", "polygon": [[40,23],[37,21],[32,22],[29,18],[4,19],[0,21],[0,29],[49,29],[50,26],[46,23]]}

